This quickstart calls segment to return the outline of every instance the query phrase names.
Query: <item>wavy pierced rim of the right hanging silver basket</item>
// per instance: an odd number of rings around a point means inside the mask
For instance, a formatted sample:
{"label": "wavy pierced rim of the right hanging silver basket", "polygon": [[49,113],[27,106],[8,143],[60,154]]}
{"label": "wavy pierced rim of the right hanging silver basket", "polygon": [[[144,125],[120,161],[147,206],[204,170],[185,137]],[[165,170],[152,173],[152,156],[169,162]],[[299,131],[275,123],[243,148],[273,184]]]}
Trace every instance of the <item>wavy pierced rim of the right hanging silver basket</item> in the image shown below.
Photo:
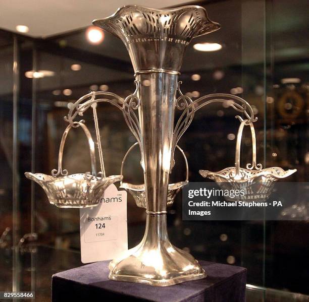
{"label": "wavy pierced rim of the right hanging silver basket", "polygon": [[[265,177],[274,177],[275,179],[285,178],[290,176],[291,174],[295,173],[296,169],[292,170],[284,170],[280,167],[270,167],[266,169],[260,170],[250,170],[245,168],[240,168],[240,174],[242,177],[237,179],[237,181],[243,180],[244,182],[248,180],[252,180],[254,178],[265,176]],[[221,179],[225,182],[231,182],[236,180],[236,168],[235,167],[228,167],[218,172],[212,172],[208,170],[199,170],[199,174],[203,177],[208,177],[211,179]],[[239,178],[239,177],[238,177]]]}

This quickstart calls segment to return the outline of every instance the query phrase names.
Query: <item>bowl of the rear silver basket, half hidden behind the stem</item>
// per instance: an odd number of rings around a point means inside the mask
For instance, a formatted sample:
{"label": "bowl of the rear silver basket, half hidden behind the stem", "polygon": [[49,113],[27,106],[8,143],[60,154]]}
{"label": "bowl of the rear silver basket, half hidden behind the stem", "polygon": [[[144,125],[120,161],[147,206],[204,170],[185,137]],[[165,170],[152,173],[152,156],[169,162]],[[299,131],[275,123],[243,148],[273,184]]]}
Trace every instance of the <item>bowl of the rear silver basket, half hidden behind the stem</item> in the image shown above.
{"label": "bowl of the rear silver basket, half hidden behind the stem", "polygon": [[[177,193],[188,184],[188,181],[178,182],[170,184],[167,196],[167,206],[174,203]],[[145,196],[145,185],[132,185],[129,183],[122,183],[120,188],[127,190],[133,196],[135,203],[138,207],[146,209],[146,196]]]}

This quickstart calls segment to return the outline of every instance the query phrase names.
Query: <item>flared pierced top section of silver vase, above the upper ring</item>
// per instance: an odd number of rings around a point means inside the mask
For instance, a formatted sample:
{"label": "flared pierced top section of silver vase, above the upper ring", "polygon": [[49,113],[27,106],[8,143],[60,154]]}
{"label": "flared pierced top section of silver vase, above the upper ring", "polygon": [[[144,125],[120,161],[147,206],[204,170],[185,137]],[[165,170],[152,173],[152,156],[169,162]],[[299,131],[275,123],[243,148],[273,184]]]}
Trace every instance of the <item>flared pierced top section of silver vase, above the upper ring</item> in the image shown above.
{"label": "flared pierced top section of silver vase, above the upper ring", "polygon": [[93,24],[122,39],[135,72],[178,72],[190,40],[220,28],[199,6],[156,10],[129,5]]}

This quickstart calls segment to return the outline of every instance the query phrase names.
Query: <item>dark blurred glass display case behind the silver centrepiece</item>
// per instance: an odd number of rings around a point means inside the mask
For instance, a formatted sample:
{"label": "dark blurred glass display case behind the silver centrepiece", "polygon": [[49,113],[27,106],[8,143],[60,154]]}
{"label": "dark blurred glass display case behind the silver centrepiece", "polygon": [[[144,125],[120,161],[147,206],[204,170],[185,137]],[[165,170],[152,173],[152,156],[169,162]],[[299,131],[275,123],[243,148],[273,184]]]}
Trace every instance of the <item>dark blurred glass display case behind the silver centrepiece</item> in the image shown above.
{"label": "dark blurred glass display case behind the silver centrepiece", "polygon": [[[289,181],[308,182],[307,2],[194,4],[205,7],[221,29],[197,37],[188,47],[180,71],[182,92],[193,100],[217,92],[246,99],[258,117],[258,161],[264,166],[296,168]],[[98,12],[100,17],[104,16]],[[0,30],[1,291],[33,290],[38,300],[47,301],[52,274],[81,265],[78,209],[49,205],[44,192],[24,172],[49,174],[57,167],[69,103],[89,91],[109,90],[126,97],[135,90],[134,71],[121,40],[104,31],[101,40],[93,42],[91,29],[44,39]],[[200,51],[196,44],[205,42],[216,43],[218,49]],[[90,113],[85,113],[85,119],[91,120]],[[102,104],[97,114],[106,169],[120,174],[126,150],[136,140],[116,107]],[[219,171],[234,163],[239,126],[234,116],[233,109],[220,104],[196,112],[179,141],[190,182],[207,181],[198,173],[201,167]],[[94,127],[90,131],[94,133]],[[250,160],[250,146],[245,139],[243,163]],[[175,157],[179,160],[171,181],[179,182],[186,178],[186,167],[177,150]],[[128,159],[125,181],[142,183],[138,148]],[[63,161],[72,173],[89,169],[82,132],[69,134]],[[295,200],[293,206],[302,220],[183,221],[178,194],[168,211],[170,239],[196,259],[246,267],[248,302],[307,301],[307,197]],[[144,210],[128,194],[129,248],[139,243],[144,221]]]}

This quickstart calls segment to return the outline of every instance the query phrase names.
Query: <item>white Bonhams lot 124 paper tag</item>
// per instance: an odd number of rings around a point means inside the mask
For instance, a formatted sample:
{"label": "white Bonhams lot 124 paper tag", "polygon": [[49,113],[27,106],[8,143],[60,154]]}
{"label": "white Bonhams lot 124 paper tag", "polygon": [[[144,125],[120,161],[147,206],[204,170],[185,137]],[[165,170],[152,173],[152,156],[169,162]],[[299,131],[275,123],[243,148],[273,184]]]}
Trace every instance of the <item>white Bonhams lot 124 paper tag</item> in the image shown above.
{"label": "white Bonhams lot 124 paper tag", "polygon": [[128,250],[126,191],[111,185],[99,205],[79,214],[82,263],[114,259]]}

